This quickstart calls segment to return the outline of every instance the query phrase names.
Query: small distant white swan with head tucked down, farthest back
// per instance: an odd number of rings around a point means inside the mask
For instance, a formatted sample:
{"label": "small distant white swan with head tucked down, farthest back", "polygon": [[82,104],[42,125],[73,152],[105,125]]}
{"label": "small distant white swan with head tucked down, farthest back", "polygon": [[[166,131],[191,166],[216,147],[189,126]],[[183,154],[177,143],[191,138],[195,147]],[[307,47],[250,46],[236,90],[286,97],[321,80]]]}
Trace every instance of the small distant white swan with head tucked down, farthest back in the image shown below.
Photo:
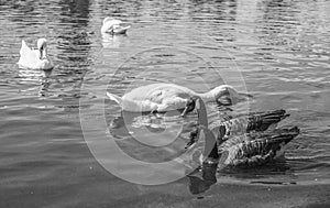
{"label": "small distant white swan with head tucked down, farthest back", "polygon": [[109,34],[127,34],[127,31],[131,28],[130,25],[123,26],[121,20],[116,20],[113,18],[107,17],[103,19],[103,24],[101,28],[101,33]]}

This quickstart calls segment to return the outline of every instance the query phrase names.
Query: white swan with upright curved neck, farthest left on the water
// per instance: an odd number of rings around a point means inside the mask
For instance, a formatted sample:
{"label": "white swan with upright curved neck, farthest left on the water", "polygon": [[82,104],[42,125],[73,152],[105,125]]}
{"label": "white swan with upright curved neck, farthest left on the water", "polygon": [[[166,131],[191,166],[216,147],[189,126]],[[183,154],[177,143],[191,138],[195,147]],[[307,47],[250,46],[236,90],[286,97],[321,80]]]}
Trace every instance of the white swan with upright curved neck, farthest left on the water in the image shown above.
{"label": "white swan with upright curved neck, farthest left on the water", "polygon": [[38,39],[36,46],[37,48],[30,48],[25,41],[22,40],[21,57],[18,62],[19,67],[44,70],[52,69],[54,65],[47,57],[47,40]]}

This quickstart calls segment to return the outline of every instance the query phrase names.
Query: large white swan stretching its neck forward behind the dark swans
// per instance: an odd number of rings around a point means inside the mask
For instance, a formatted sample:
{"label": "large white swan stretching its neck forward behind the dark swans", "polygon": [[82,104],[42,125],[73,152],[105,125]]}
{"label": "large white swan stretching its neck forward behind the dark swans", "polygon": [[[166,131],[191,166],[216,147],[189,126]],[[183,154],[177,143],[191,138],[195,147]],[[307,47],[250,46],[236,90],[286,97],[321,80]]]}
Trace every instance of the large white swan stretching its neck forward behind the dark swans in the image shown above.
{"label": "large white swan stretching its neck forward behind the dark swans", "polygon": [[182,116],[194,109],[194,105],[187,105],[193,96],[199,96],[205,102],[221,100],[221,105],[234,105],[250,97],[229,85],[220,85],[208,92],[198,94],[187,87],[163,83],[138,87],[122,97],[108,91],[107,96],[124,111],[167,112],[180,109]]}

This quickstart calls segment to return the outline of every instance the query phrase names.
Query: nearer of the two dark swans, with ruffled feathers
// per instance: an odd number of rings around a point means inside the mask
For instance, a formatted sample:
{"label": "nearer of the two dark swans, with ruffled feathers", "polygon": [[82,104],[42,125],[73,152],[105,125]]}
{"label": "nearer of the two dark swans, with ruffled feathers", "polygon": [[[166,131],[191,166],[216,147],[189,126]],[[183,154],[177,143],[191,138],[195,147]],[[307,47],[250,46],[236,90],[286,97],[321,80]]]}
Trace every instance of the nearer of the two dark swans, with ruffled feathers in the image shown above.
{"label": "nearer of the two dark swans, with ruffled feathers", "polygon": [[200,163],[227,166],[254,166],[274,161],[283,154],[283,147],[299,134],[299,128],[275,129],[273,131],[249,132],[226,141],[217,141],[209,130],[207,111],[202,99],[195,98],[198,113],[199,138],[205,134],[205,146]]}

